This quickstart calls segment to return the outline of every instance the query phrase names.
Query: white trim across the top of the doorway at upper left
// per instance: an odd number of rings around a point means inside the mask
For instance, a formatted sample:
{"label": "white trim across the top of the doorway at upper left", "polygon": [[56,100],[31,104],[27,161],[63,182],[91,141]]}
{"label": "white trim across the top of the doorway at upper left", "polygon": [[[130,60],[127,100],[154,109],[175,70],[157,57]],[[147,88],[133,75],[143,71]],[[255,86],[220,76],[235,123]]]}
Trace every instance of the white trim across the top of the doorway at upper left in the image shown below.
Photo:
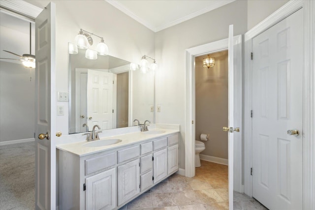
{"label": "white trim across the top of the doorway at upper left", "polygon": [[42,11],[41,8],[24,0],[0,0],[0,6],[33,19]]}

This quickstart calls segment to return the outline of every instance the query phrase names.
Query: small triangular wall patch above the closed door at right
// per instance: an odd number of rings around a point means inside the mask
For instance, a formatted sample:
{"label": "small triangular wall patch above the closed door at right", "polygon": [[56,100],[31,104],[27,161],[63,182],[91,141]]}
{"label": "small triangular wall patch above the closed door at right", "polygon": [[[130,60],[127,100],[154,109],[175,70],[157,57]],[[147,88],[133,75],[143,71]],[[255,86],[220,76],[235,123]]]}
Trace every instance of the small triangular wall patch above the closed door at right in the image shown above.
{"label": "small triangular wall patch above the closed door at right", "polygon": [[289,0],[248,0],[247,30],[252,29]]}

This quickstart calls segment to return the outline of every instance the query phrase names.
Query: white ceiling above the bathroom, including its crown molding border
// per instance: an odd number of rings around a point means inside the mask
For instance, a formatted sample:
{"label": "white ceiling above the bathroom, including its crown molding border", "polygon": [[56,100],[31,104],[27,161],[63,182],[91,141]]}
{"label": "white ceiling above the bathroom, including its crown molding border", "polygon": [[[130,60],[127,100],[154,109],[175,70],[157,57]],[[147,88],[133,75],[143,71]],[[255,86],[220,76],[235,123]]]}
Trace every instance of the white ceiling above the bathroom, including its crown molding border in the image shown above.
{"label": "white ceiling above the bathroom, including its crown molding border", "polygon": [[187,21],[234,0],[106,0],[155,32]]}

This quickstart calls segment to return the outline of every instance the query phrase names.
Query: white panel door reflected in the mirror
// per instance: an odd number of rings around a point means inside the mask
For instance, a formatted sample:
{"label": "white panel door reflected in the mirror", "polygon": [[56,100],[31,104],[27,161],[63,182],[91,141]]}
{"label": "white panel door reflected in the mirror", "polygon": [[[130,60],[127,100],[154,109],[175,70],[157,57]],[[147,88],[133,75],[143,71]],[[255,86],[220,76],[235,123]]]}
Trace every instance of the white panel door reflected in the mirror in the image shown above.
{"label": "white panel door reflected in the mirror", "polygon": [[88,69],[88,125],[113,128],[113,73]]}

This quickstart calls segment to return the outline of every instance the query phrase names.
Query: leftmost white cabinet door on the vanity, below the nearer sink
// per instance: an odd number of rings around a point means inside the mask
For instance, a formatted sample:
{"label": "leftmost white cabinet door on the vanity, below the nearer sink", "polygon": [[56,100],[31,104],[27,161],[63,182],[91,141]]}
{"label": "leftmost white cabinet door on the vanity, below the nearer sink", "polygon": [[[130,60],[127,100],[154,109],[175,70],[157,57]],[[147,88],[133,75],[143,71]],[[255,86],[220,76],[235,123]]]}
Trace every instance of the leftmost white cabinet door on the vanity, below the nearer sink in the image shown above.
{"label": "leftmost white cabinet door on the vanity, below the nearer sink", "polygon": [[116,207],[116,168],[86,179],[86,209],[111,210]]}

